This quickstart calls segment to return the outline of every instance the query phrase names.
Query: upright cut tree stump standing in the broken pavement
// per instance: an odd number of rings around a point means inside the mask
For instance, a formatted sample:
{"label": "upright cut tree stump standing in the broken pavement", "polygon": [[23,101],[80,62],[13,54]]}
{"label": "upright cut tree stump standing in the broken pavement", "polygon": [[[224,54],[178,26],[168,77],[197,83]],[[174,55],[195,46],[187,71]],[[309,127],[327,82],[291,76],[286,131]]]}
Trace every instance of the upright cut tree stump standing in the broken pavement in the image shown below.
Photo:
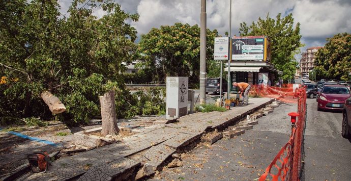
{"label": "upright cut tree stump standing in the broken pavement", "polygon": [[114,105],[114,90],[100,96],[102,130],[101,135],[115,135],[120,132],[117,125],[117,118]]}

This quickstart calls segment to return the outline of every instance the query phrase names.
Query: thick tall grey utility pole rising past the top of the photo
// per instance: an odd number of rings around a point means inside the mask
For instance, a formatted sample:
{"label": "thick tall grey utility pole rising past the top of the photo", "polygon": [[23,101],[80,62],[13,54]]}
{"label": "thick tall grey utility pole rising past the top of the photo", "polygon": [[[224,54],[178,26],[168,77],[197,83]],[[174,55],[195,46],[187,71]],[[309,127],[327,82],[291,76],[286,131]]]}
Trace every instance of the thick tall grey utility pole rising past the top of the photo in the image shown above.
{"label": "thick tall grey utility pole rising past the top of the photo", "polygon": [[201,0],[200,14],[200,104],[206,104],[206,0]]}

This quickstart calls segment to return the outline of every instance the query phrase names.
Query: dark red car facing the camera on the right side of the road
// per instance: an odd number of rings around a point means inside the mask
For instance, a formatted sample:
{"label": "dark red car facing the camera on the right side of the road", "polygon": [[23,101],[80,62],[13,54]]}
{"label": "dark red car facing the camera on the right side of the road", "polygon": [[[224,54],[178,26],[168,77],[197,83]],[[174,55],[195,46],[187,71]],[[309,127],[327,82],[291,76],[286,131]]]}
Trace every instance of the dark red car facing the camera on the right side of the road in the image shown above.
{"label": "dark red car facing the camera on the right side of the road", "polygon": [[325,85],[317,98],[317,110],[342,110],[345,100],[351,97],[343,85]]}

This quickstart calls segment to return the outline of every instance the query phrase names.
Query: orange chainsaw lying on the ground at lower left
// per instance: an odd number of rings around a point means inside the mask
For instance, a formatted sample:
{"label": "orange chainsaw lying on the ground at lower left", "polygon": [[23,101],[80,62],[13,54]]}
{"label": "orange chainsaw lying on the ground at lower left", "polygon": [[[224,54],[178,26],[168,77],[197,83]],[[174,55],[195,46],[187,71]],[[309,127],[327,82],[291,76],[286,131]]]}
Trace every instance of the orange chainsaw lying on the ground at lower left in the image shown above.
{"label": "orange chainsaw lying on the ground at lower left", "polygon": [[35,173],[43,173],[49,167],[49,154],[47,152],[33,152],[27,154],[30,168]]}

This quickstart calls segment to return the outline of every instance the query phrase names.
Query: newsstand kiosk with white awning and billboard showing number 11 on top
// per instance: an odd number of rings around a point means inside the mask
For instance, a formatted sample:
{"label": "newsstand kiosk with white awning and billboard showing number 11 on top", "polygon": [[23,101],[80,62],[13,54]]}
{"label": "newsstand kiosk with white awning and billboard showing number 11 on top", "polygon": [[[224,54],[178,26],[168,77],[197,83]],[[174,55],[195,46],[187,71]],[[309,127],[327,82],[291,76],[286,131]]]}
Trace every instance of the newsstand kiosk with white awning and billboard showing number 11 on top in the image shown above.
{"label": "newsstand kiosk with white awning and billboard showing number 11 on top", "polygon": [[[271,86],[279,81],[278,75],[283,74],[271,64],[271,42],[266,36],[233,36],[231,54],[229,83]],[[231,91],[236,90],[232,87]]]}

